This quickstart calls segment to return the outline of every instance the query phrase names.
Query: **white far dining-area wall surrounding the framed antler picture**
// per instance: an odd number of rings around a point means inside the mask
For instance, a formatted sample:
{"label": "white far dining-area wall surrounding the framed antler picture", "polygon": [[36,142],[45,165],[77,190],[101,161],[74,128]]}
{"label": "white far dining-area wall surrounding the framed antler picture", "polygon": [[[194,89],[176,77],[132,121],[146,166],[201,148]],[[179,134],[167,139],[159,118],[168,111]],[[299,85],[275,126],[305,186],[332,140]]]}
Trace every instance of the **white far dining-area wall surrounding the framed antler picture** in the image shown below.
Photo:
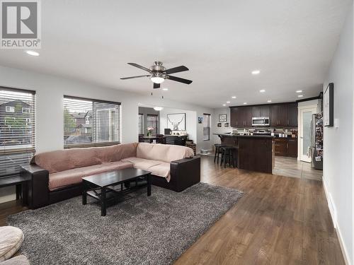
{"label": "white far dining-area wall surrounding the framed antler picture", "polygon": [[167,114],[173,113],[185,113],[185,131],[188,134],[188,139],[197,141],[197,112],[192,110],[178,110],[171,107],[164,107],[164,110],[160,111],[160,134],[164,134],[164,129],[167,128]]}

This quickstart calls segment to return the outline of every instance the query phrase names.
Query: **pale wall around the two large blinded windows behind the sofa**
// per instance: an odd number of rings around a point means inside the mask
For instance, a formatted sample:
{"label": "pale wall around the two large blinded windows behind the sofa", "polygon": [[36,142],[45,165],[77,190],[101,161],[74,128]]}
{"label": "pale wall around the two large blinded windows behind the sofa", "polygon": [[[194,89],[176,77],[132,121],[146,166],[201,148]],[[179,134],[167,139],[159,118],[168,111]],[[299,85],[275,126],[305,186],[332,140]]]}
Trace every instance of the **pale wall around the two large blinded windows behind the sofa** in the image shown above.
{"label": "pale wall around the two large blinded windows behind the sofa", "polygon": [[[4,66],[0,66],[0,86],[36,91],[37,152],[64,148],[63,95],[122,102],[122,143],[138,140],[139,103],[193,110],[197,116],[202,116],[205,112],[212,113],[212,110],[206,107],[153,97],[149,95],[149,88],[146,95],[139,95]],[[196,119],[195,122],[197,123]],[[198,150],[211,149],[211,141],[202,141],[202,124],[196,126],[195,134]],[[0,197],[6,191],[8,189],[0,189]]]}

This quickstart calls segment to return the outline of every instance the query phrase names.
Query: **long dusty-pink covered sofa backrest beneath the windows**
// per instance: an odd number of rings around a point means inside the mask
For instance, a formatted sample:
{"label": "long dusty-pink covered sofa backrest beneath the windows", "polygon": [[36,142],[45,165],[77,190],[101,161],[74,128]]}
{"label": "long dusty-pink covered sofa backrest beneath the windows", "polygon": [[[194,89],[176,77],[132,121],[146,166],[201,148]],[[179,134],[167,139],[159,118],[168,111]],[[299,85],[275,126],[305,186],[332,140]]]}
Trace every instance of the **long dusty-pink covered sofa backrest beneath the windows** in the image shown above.
{"label": "long dusty-pink covered sofa backrest beneath the windows", "polygon": [[35,155],[31,163],[48,170],[50,173],[87,167],[105,162],[113,162],[135,156],[137,143],[119,144],[106,147],[75,148],[52,151]]}

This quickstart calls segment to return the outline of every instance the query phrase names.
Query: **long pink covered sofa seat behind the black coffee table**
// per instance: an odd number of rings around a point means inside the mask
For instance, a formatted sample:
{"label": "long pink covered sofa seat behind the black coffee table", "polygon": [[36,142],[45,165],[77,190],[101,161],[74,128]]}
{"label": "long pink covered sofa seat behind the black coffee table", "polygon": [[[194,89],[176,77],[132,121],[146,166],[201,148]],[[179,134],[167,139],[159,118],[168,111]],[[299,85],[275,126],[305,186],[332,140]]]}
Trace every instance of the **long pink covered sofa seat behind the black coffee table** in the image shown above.
{"label": "long pink covered sofa seat behind the black coffee table", "polygon": [[132,166],[133,164],[127,161],[115,161],[99,165],[91,165],[89,167],[74,168],[72,170],[65,170],[62,172],[55,172],[49,175],[49,189],[52,191],[68,185],[78,184],[81,182],[81,177],[87,177],[113,170],[121,170]]}

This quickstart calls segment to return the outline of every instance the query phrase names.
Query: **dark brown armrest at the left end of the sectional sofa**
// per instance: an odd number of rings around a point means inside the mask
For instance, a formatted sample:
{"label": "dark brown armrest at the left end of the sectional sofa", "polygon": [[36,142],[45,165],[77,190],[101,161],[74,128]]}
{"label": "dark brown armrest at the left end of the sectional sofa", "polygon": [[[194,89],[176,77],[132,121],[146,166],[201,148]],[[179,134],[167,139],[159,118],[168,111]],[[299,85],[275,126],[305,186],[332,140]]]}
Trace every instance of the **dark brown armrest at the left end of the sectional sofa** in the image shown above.
{"label": "dark brown armrest at the left end of the sectional sofa", "polygon": [[21,175],[30,179],[28,183],[28,206],[31,209],[49,204],[49,172],[38,165],[21,167]]}

